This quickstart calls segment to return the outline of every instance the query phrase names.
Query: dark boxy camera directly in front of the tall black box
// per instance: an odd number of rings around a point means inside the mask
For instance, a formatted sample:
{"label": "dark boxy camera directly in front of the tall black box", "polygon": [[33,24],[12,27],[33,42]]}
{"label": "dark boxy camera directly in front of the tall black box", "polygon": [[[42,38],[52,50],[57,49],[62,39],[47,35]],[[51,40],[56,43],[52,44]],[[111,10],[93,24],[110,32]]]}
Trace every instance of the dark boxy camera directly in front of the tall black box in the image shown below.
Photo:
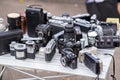
{"label": "dark boxy camera directly in front of the tall black box", "polygon": [[40,38],[40,46],[44,47],[52,38],[51,26],[48,24],[39,24],[36,27],[37,36]]}

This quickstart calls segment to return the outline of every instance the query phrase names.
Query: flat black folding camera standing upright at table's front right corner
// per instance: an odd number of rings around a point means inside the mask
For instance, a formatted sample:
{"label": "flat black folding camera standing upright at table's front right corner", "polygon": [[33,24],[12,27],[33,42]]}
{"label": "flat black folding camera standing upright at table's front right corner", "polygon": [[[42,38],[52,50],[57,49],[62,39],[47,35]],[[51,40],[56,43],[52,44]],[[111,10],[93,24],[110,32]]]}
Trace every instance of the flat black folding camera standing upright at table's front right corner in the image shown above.
{"label": "flat black folding camera standing upright at table's front right corner", "polygon": [[84,53],[84,64],[95,74],[100,74],[103,69],[102,61],[92,53]]}

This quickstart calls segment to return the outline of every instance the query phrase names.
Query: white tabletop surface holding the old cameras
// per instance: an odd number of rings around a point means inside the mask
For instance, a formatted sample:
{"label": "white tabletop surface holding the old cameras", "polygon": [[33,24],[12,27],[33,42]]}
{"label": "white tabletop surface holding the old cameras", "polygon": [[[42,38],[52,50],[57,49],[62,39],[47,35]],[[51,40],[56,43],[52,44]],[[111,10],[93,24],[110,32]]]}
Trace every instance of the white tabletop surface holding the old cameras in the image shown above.
{"label": "white tabletop surface holding the old cameras", "polygon": [[[114,49],[98,49],[98,57],[103,61],[103,71],[100,74],[100,78],[105,79],[110,62],[112,60],[111,56],[103,55],[104,53],[114,54]],[[44,54],[36,54],[35,59],[25,59],[25,60],[17,60],[14,56],[10,54],[0,56],[0,64],[7,66],[17,66],[17,67],[25,67],[32,69],[41,69],[53,72],[61,72],[73,75],[81,75],[81,76],[89,76],[96,77],[91,70],[89,70],[83,63],[78,63],[77,69],[71,69],[69,67],[63,67],[60,63],[60,54],[56,53],[51,62],[45,61]]]}

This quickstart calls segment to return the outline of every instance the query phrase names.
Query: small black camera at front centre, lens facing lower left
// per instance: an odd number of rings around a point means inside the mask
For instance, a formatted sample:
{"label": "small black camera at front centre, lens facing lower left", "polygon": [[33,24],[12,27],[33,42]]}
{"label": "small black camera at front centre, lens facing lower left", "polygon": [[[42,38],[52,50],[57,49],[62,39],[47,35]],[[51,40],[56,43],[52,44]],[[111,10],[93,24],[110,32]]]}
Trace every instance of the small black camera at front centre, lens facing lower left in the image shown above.
{"label": "small black camera at front centre, lens facing lower left", "polygon": [[61,51],[60,62],[63,66],[68,66],[72,69],[77,68],[77,55],[74,54],[73,50],[70,48],[64,48]]}

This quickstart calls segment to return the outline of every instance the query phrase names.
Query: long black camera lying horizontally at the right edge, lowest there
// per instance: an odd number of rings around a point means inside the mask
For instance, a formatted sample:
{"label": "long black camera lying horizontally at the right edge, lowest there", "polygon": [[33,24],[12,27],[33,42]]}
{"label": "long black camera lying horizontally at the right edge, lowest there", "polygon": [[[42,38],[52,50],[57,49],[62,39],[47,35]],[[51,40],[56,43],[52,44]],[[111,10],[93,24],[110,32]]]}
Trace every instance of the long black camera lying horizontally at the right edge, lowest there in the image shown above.
{"label": "long black camera lying horizontally at the right edge, lowest there", "polygon": [[97,38],[97,48],[115,48],[119,46],[119,36],[100,36]]}

